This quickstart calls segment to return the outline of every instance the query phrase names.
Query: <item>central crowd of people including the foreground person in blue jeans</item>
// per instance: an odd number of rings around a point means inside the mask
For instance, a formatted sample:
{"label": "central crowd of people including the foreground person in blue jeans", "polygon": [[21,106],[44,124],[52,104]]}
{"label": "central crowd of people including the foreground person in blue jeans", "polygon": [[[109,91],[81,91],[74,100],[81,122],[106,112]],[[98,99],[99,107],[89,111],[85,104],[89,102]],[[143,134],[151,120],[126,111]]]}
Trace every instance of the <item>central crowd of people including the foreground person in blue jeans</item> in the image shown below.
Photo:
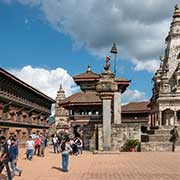
{"label": "central crowd of people including the foreground person in blue jeans", "polygon": [[68,136],[53,135],[52,143],[54,153],[62,153],[62,170],[68,172],[69,154],[79,155],[82,154],[83,142],[80,137],[69,139]]}

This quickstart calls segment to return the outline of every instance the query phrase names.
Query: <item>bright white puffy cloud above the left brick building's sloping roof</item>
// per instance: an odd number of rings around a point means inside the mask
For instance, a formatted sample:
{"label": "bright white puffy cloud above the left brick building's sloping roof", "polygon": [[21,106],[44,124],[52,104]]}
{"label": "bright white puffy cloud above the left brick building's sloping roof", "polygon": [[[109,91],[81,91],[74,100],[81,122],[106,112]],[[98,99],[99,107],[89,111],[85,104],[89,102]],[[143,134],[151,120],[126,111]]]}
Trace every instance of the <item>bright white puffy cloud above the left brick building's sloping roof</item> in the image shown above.
{"label": "bright white puffy cloud above the left brick building's sloping roof", "polygon": [[54,99],[60,84],[62,84],[66,96],[71,95],[77,88],[72,77],[62,68],[48,70],[45,68],[33,68],[28,65],[22,69],[11,69],[9,71]]}

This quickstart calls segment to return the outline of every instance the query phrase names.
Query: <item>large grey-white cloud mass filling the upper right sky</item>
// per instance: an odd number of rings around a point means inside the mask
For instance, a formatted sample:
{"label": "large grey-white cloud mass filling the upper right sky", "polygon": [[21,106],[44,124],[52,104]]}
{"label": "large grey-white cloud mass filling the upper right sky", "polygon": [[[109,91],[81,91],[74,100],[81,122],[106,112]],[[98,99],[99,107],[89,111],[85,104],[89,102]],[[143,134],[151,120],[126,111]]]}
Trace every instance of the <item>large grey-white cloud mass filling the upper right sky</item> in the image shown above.
{"label": "large grey-white cloud mass filling the upper right sky", "polygon": [[[17,0],[38,6],[45,20],[68,34],[74,46],[105,57],[116,42],[119,57],[130,59],[135,70],[155,70],[164,53],[164,39],[178,0]],[[136,59],[136,62],[135,60]],[[148,64],[153,67],[149,70]],[[143,65],[145,63],[146,65]]]}

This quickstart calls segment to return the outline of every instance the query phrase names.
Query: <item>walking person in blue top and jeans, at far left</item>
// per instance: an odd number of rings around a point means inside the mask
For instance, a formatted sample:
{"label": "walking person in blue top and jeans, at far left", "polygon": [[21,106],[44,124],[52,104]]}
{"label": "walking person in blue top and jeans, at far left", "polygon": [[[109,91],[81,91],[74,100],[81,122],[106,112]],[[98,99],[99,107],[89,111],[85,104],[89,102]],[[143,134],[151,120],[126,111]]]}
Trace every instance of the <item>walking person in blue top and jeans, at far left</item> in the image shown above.
{"label": "walking person in blue top and jeans, at far left", "polygon": [[16,174],[16,172],[21,176],[22,170],[16,167],[16,160],[18,157],[18,145],[14,138],[11,139],[11,146],[9,148],[9,154],[11,157],[11,169],[12,169],[12,176]]}

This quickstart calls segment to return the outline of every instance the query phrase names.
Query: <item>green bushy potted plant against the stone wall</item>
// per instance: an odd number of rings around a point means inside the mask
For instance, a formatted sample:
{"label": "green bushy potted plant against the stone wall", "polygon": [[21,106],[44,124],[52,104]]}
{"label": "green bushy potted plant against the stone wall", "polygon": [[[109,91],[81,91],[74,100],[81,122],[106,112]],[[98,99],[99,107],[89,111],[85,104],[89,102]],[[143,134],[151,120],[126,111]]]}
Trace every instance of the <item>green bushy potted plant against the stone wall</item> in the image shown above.
{"label": "green bushy potted plant against the stone wall", "polygon": [[135,152],[135,149],[138,145],[138,139],[128,139],[126,143],[123,145],[123,150],[126,152]]}

